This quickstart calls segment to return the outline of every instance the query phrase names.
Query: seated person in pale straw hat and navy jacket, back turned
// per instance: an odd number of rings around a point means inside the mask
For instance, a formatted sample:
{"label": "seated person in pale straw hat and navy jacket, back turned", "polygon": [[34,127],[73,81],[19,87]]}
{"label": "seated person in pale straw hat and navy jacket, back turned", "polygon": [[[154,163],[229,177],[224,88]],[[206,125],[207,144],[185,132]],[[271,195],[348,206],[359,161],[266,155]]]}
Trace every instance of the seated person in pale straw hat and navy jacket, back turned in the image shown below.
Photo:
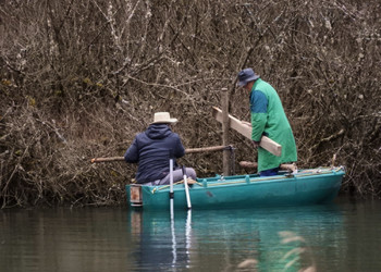
{"label": "seated person in pale straw hat and navy jacket, back turned", "polygon": [[[176,158],[185,154],[184,146],[176,133],[171,131],[171,124],[176,123],[169,112],[155,113],[153,122],[148,128],[136,135],[134,141],[124,154],[124,160],[138,163],[136,182],[143,185],[170,184],[170,158],[173,159],[173,182],[183,180],[182,169]],[[192,168],[185,169],[188,177],[196,180]]]}

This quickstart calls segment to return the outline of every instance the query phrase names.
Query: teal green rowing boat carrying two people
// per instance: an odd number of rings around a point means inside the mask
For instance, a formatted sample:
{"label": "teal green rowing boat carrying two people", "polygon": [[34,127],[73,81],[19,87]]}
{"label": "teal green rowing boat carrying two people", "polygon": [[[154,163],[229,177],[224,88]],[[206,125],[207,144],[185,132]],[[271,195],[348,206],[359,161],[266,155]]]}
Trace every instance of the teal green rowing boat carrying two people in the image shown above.
{"label": "teal green rowing boat carrying two people", "polygon": [[[192,209],[256,208],[273,206],[304,206],[332,201],[341,187],[344,168],[280,172],[261,177],[258,174],[197,178],[189,185]],[[126,185],[127,202],[144,210],[170,209],[170,185]],[[183,182],[173,184],[174,209],[187,209]]]}

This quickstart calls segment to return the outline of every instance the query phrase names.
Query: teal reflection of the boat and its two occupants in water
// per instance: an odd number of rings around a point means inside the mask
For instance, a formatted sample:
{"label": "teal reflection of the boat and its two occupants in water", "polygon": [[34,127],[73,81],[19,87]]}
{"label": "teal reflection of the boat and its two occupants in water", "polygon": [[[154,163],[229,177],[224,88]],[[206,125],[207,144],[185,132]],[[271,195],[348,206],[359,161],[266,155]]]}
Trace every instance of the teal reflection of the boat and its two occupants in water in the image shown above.
{"label": "teal reflection of the boat and its two occupants in water", "polygon": [[130,214],[139,270],[298,271],[325,257],[311,248],[345,238],[335,205]]}

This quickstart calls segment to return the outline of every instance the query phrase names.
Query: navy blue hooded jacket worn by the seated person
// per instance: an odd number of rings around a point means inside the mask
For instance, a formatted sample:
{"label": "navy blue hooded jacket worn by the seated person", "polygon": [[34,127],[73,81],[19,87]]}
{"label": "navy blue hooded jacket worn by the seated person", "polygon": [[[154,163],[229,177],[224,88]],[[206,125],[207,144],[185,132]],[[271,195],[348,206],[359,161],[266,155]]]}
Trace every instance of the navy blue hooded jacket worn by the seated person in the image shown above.
{"label": "navy blue hooded jacket worn by the seated person", "polygon": [[176,133],[167,124],[151,124],[136,135],[124,154],[124,160],[138,163],[136,182],[149,183],[161,180],[170,171],[170,157],[174,159],[185,154],[185,149]]}

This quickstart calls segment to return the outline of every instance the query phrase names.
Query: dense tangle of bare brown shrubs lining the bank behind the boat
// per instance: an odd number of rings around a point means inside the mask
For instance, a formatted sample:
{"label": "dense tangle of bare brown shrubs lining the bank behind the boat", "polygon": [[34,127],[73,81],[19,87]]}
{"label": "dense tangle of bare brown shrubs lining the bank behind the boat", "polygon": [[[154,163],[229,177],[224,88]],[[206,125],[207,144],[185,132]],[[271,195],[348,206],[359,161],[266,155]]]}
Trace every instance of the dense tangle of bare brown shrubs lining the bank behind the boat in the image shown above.
{"label": "dense tangle of bare brown shrubs lining the bank behind the boat", "polygon": [[[368,1],[4,1],[1,18],[2,207],[110,205],[135,168],[122,156],[155,111],[181,120],[186,147],[221,144],[220,90],[248,120],[236,73],[279,91],[298,166],[347,168],[343,189],[381,193],[380,3]],[[255,159],[235,133],[237,161]],[[189,154],[198,174],[219,154]],[[114,187],[113,187],[114,186]]]}

